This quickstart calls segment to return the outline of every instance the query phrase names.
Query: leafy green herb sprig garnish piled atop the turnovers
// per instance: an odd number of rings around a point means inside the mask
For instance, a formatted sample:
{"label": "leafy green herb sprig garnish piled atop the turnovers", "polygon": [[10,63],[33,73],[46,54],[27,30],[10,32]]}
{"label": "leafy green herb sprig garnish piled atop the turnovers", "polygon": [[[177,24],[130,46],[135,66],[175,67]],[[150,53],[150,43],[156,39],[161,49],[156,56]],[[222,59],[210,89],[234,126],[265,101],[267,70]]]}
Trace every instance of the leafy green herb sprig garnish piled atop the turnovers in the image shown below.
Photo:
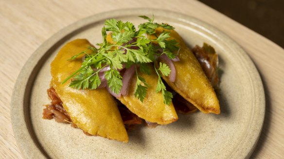
{"label": "leafy green herb sprig garnish piled atop the turnovers", "polygon": [[[135,97],[143,102],[149,85],[145,79],[139,76],[138,68],[142,73],[150,75],[149,67],[151,65],[149,63],[153,63],[155,73],[158,75],[156,92],[161,92],[164,103],[169,105],[173,95],[166,90],[161,75],[169,76],[171,69],[163,63],[159,63],[160,66],[157,68],[155,62],[162,54],[170,59],[176,58],[175,52],[179,48],[176,40],[168,40],[171,37],[170,32],[165,31],[158,35],[156,29],[162,27],[166,30],[173,30],[174,27],[164,23],[154,23],[154,16],[152,18],[148,16],[139,17],[148,20],[148,22],[140,24],[138,30],[131,22],[107,19],[102,28],[103,42],[97,44],[99,48],[89,47],[86,51],[71,57],[69,60],[74,60],[85,54],[82,66],[62,83],[72,78],[69,85],[72,88],[96,89],[101,85],[100,70],[109,66],[109,70],[104,72],[107,86],[112,92],[119,94],[123,85],[120,70],[123,69],[123,64],[126,65],[126,68],[134,64],[137,77]],[[107,33],[111,33],[113,43],[107,42]],[[156,38],[150,39],[151,35]]]}

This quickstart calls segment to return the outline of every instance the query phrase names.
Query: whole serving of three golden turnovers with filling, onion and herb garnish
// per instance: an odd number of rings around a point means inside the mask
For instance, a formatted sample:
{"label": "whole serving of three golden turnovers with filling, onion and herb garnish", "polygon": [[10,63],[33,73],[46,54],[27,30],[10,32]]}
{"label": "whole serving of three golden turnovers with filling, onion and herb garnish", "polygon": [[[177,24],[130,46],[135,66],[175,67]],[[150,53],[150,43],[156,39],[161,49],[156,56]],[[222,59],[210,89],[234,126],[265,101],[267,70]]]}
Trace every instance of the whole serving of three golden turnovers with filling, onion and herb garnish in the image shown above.
{"label": "whole serving of three golden turnovers with filling, onion and herb garnish", "polygon": [[154,23],[154,16],[140,17],[148,22],[138,29],[107,19],[97,47],[76,39],[60,49],[51,64],[47,92],[52,102],[43,118],[127,143],[126,129],[135,125],[170,124],[177,121],[177,112],[197,109],[220,113],[210,83],[217,87],[213,49],[204,44],[193,54],[174,27]]}

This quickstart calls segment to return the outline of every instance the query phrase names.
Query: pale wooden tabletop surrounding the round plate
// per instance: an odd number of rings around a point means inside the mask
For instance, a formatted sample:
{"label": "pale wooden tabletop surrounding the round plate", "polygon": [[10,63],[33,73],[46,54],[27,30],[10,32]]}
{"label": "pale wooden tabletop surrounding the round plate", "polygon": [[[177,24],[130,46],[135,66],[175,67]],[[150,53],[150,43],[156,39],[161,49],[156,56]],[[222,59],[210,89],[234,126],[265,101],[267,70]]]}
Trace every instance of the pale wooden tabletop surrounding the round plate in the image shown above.
{"label": "pale wooden tabletop surrounding the round plate", "polygon": [[10,102],[17,76],[35,49],[81,18],[141,7],[162,8],[202,19],[247,51],[260,72],[266,94],[265,122],[252,158],[283,158],[284,49],[195,0],[0,0],[0,158],[22,158],[13,136]]}

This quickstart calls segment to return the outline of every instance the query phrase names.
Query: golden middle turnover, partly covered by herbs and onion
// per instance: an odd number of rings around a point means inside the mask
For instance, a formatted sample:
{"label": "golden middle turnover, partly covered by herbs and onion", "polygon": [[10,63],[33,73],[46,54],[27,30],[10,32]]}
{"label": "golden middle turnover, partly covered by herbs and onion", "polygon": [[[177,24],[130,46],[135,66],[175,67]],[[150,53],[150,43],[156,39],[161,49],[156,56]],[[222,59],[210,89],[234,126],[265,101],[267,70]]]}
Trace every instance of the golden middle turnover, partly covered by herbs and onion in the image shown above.
{"label": "golden middle turnover, partly covered by herbs and onion", "polygon": [[[151,68],[151,72],[155,71]],[[174,105],[170,102],[170,105],[166,105],[163,102],[163,96],[161,93],[156,93],[158,76],[156,74],[147,75],[139,72],[140,77],[145,79],[149,85],[147,94],[143,102],[135,97],[135,84],[136,77],[130,80],[128,89],[128,95],[121,95],[118,99],[133,113],[141,117],[142,119],[151,122],[158,123],[160,125],[170,124],[177,121],[177,113]]]}

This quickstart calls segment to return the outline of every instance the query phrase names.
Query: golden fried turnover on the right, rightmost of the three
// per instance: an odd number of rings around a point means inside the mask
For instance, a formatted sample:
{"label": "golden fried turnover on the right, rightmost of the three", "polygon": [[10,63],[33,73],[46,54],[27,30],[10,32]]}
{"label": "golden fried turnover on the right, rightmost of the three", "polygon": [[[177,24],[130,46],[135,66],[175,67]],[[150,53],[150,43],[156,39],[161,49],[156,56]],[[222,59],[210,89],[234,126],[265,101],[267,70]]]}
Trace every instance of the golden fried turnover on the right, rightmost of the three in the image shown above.
{"label": "golden fried turnover on the right, rightmost of the three", "polygon": [[[156,34],[165,32],[163,28],[157,28]],[[174,89],[179,95],[192,103],[197,109],[204,113],[220,113],[219,101],[214,92],[210,81],[206,77],[195,55],[186,46],[182,38],[174,30],[168,31],[170,38],[179,43],[180,50],[177,57],[178,62],[162,58],[163,63],[173,63],[176,69],[176,79],[171,81],[171,77],[163,76],[167,84]],[[152,35],[151,39],[155,39]]]}

